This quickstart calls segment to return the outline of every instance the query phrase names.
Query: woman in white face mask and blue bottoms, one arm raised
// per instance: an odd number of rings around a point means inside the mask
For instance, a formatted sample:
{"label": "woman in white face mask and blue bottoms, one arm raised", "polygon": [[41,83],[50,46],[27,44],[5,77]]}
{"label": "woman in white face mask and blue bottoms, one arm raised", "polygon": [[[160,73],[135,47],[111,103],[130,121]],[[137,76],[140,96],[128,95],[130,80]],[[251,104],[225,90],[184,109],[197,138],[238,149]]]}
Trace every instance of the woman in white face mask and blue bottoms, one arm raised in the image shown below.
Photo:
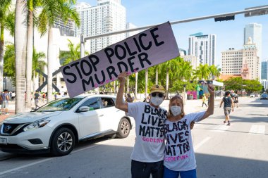
{"label": "woman in white face mask and blue bottoms, one arm raised", "polygon": [[209,85],[208,91],[211,99],[207,111],[185,115],[183,100],[179,96],[174,96],[169,101],[169,114],[164,122],[166,139],[164,178],[196,177],[196,161],[190,122],[204,120],[214,113],[214,87]]}

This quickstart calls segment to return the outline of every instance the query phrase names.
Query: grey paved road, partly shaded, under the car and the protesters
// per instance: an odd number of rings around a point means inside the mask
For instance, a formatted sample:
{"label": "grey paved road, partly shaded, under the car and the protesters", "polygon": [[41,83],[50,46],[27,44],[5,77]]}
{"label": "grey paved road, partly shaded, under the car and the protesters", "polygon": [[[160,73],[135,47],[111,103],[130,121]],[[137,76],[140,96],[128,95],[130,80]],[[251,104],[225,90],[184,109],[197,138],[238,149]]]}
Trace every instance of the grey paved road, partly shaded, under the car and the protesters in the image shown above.
{"label": "grey paved road, partly shaded, under the car and the protesters", "polygon": [[[186,112],[205,109],[192,102]],[[240,98],[228,127],[216,101],[214,115],[193,129],[197,177],[267,177],[267,106],[268,101]],[[0,177],[130,177],[134,141],[134,132],[126,139],[87,141],[63,157],[0,152]]]}

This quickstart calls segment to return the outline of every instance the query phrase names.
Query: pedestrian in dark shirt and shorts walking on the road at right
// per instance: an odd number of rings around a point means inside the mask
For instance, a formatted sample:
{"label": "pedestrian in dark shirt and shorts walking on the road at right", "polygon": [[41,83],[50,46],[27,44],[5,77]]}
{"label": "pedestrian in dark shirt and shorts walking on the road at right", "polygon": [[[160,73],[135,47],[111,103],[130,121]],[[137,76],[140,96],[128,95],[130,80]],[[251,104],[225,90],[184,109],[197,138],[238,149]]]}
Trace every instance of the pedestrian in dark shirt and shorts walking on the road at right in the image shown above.
{"label": "pedestrian in dark shirt and shorts walking on the road at right", "polygon": [[219,108],[221,108],[222,103],[224,103],[224,115],[225,115],[225,120],[224,124],[228,122],[227,125],[231,125],[230,123],[230,113],[231,110],[233,111],[233,100],[231,98],[231,92],[226,91],[224,98],[222,98],[221,103],[219,105]]}

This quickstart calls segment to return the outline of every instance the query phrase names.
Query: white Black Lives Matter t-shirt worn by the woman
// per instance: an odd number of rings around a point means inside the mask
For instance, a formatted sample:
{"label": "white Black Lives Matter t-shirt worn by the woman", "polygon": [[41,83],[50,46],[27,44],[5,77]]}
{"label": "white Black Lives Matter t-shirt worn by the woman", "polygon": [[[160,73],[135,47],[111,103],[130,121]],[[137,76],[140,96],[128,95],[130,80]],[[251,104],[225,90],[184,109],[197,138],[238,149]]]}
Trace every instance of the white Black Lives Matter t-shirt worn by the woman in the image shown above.
{"label": "white Black Lives Matter t-shirt worn by the woman", "polygon": [[176,122],[164,121],[164,166],[169,170],[188,171],[196,168],[190,122],[198,122],[204,114],[205,111],[190,113]]}

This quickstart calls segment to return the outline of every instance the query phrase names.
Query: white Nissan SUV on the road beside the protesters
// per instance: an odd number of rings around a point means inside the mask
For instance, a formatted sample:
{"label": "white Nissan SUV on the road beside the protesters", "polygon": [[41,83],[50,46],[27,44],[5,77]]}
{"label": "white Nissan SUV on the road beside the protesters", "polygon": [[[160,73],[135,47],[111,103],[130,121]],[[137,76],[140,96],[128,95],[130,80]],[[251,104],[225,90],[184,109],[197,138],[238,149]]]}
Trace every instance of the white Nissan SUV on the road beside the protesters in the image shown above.
{"label": "white Nissan SUV on the road beside the protesters", "polygon": [[109,134],[125,138],[134,120],[116,109],[115,101],[109,95],[61,98],[8,117],[0,123],[0,150],[68,155],[79,141]]}

